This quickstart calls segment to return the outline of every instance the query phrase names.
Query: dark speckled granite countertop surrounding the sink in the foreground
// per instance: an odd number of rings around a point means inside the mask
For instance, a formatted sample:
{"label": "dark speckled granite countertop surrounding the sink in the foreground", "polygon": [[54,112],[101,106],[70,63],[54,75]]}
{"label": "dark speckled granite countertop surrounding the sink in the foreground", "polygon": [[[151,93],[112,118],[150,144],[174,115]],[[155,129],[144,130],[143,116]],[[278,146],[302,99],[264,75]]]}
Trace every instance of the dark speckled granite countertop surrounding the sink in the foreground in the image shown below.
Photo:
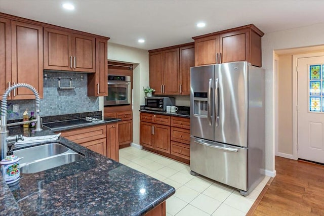
{"label": "dark speckled granite countertop surrounding the sink in the foreground", "polygon": [[[107,122],[106,122],[107,123]],[[10,135],[53,134],[10,128]],[[0,177],[0,214],[3,215],[142,215],[175,193],[175,189],[142,172],[75,144],[61,144],[84,158],[34,174],[21,174],[8,187]]]}

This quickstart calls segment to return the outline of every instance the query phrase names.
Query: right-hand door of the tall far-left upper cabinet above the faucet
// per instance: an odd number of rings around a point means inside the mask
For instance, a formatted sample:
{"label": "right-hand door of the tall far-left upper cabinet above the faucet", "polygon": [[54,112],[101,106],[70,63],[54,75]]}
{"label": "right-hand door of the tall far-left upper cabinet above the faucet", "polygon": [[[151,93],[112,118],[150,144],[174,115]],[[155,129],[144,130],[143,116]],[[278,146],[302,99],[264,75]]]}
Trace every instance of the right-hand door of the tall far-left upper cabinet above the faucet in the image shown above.
{"label": "right-hand door of the tall far-left upper cabinet above the faucet", "polygon": [[[43,56],[43,27],[11,20],[11,72],[7,71],[6,87],[15,83],[28,83],[43,98]],[[9,63],[10,60],[6,60]],[[10,95],[9,100],[35,98],[26,88],[18,88]]]}

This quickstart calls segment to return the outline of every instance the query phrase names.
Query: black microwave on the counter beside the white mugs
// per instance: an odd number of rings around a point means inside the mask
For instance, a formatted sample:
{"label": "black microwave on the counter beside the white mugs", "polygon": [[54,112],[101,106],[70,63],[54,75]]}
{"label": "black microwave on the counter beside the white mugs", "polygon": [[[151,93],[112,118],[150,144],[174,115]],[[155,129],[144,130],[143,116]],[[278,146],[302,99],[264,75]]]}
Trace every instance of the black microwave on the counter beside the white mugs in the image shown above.
{"label": "black microwave on the counter beside the white mugs", "polygon": [[170,97],[145,97],[147,110],[166,111],[167,106],[174,106],[174,98]]}

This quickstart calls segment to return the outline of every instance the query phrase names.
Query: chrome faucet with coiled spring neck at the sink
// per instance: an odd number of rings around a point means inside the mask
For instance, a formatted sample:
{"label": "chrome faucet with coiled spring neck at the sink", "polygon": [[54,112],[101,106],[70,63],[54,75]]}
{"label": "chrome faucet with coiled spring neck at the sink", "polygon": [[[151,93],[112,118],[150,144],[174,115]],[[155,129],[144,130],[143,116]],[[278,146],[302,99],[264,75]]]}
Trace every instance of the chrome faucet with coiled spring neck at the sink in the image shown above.
{"label": "chrome faucet with coiled spring neck at the sink", "polygon": [[[32,93],[35,95],[36,98],[36,119],[35,120],[30,120],[30,121],[21,121],[21,122],[15,122],[15,123],[10,123],[7,124],[7,98],[9,93],[14,90],[17,89],[19,87],[24,87],[27,89],[30,89],[32,91]],[[11,126],[11,125],[18,125],[18,124],[24,124],[24,123],[29,123],[29,122],[37,122],[36,123],[36,129],[35,131],[42,131],[42,127],[41,127],[41,116],[39,116],[39,94],[37,92],[37,90],[32,87],[32,85],[27,84],[27,83],[17,83],[14,85],[11,85],[11,87],[9,87],[5,93],[4,96],[2,98],[1,101],[1,124],[0,124],[0,147],[1,147],[1,158],[0,160],[2,160],[3,158],[6,157],[7,155],[7,151],[8,151],[8,144],[15,142],[17,139],[21,139],[21,137],[18,136],[12,136],[12,137],[8,137],[9,131],[7,126]]]}

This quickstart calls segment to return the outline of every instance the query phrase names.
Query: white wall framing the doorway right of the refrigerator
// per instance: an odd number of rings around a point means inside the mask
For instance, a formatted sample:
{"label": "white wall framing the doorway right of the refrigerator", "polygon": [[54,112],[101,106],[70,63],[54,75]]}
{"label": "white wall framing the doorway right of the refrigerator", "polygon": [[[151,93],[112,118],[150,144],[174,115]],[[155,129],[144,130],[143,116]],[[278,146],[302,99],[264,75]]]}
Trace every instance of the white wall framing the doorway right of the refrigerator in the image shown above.
{"label": "white wall framing the doorway right of the refrigerator", "polygon": [[266,70],[266,174],[274,169],[274,50],[324,44],[324,23],[267,33],[262,37],[262,67]]}

